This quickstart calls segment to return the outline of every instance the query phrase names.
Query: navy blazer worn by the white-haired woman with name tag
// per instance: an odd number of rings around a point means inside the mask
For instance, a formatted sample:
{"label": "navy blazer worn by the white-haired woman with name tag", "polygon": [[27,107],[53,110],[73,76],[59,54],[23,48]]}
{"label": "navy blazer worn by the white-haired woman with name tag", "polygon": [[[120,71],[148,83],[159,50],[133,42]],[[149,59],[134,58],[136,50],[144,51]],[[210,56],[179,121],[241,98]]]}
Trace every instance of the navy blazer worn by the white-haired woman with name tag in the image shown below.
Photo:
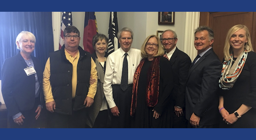
{"label": "navy blazer worn by the white-haired woman with name tag", "polygon": [[[37,58],[33,56],[31,58],[40,83],[41,96],[43,77],[41,63]],[[27,67],[20,53],[6,59],[3,63],[1,91],[9,117],[21,111],[31,110],[35,103],[41,104],[40,100],[35,100],[35,77],[34,74],[27,76],[24,70]]]}

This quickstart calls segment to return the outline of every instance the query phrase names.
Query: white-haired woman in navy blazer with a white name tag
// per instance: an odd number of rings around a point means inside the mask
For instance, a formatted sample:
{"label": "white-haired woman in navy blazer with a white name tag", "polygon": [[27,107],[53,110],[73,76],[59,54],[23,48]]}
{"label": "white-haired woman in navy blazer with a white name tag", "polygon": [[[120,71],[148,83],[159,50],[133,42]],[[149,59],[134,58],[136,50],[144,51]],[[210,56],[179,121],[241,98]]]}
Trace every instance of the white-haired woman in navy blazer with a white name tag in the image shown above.
{"label": "white-haired woman in navy blazer with a white name tag", "polygon": [[[8,112],[8,128],[37,128],[42,105],[42,68],[31,54],[35,36],[22,31],[16,38],[20,52],[2,66],[2,95]],[[37,121],[36,121],[37,120]]]}

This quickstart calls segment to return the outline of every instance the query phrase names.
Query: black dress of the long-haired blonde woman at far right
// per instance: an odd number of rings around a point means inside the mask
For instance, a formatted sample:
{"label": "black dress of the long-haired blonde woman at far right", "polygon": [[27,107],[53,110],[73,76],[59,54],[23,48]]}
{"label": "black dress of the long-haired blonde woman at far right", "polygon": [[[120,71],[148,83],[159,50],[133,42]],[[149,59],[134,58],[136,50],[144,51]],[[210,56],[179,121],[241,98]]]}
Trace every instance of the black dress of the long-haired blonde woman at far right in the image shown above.
{"label": "black dress of the long-haired blonde woman at far right", "polygon": [[252,107],[235,123],[227,125],[222,119],[220,128],[256,128],[256,53],[249,52],[244,68],[230,90],[221,90],[224,108],[234,113],[242,104]]}

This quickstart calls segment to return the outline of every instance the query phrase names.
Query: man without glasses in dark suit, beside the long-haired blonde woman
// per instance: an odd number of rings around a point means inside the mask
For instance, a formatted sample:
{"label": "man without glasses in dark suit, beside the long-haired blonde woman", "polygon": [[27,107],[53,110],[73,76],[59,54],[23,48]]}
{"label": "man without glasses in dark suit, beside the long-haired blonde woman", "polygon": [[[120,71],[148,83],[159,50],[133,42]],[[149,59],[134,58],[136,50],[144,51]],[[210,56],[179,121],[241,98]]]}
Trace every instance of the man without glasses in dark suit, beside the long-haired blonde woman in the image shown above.
{"label": "man without glasses in dark suit, beside the long-haired blonde woman", "polygon": [[189,128],[218,128],[218,80],[222,66],[213,51],[214,33],[200,26],[194,33],[194,47],[198,51],[186,85],[186,118]]}

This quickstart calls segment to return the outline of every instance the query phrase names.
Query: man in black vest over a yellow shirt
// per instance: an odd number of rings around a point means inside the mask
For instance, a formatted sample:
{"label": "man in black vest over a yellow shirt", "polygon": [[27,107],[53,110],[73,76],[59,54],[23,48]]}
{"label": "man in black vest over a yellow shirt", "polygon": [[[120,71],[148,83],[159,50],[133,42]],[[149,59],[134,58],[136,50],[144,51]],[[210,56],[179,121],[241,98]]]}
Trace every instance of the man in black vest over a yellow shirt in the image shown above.
{"label": "man in black vest over a yellow shirt", "polygon": [[91,54],[79,46],[80,32],[75,26],[64,29],[64,45],[50,53],[43,72],[46,109],[51,112],[52,128],[88,128],[87,108],[94,102],[96,64]]}

